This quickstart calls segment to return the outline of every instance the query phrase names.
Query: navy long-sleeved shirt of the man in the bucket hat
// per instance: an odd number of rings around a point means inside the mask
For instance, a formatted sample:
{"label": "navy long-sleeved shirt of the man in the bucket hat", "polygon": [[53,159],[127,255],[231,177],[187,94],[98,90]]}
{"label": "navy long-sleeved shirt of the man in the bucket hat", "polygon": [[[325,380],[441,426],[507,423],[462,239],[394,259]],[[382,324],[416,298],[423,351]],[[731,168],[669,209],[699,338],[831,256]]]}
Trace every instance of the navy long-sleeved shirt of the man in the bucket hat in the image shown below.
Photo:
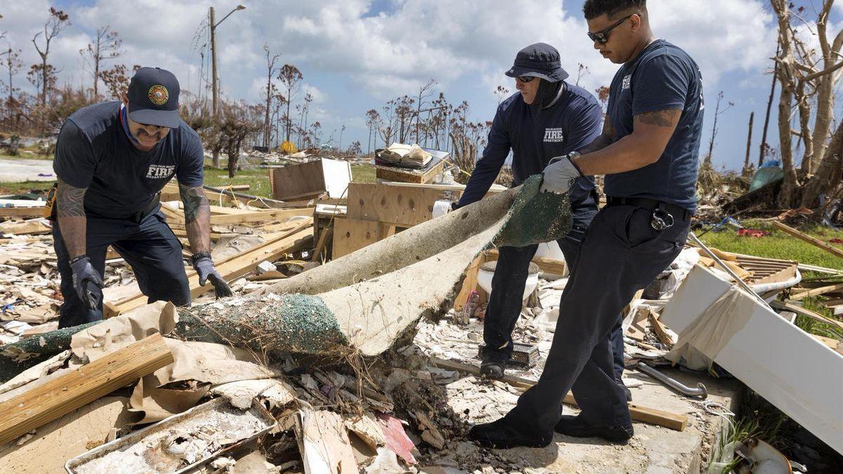
{"label": "navy long-sleeved shirt of the man in the bucket hat", "polygon": [[[459,207],[486,196],[513,150],[514,185],[545,170],[551,158],[569,154],[592,143],[600,134],[603,110],[587,90],[569,83],[554,105],[536,109],[524,104],[520,93],[498,105],[488,142],[471,173]],[[594,189],[592,177],[577,180],[571,201],[577,203]]]}

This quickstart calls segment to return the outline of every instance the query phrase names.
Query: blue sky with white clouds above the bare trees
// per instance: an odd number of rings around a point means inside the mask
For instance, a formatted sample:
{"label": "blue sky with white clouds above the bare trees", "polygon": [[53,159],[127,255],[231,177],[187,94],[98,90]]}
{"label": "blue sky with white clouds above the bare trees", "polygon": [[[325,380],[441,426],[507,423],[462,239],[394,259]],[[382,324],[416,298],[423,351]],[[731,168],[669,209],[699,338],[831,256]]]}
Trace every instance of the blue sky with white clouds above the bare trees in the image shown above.
{"label": "blue sky with white clouds above the bare trees", "polygon": [[[820,0],[797,0],[805,17],[816,18]],[[832,22],[843,13],[843,0]],[[343,146],[360,140],[366,148],[365,112],[386,100],[411,94],[433,78],[448,100],[468,100],[474,120],[491,120],[498,85],[514,91],[503,72],[524,46],[545,41],[561,51],[563,66],[589,90],[608,85],[616,66],[599,57],[585,35],[583,0],[253,0],[217,28],[222,91],[231,99],[260,100],[266,80],[263,46],[295,64],[314,95],[310,117],[323,124],[327,140],[346,125]],[[51,46],[51,63],[60,82],[89,84],[90,73],[78,54],[102,26],[119,32],[127,65],[164,67],[182,89],[201,86],[207,10],[217,21],[235,1],[193,0],[0,0],[0,47],[21,48],[24,64],[38,60],[31,39],[43,27],[50,6],[70,14],[71,26]],[[760,131],[770,92],[771,61],[776,49],[775,21],[762,0],[650,0],[656,35],[685,48],[701,67],[706,94],[707,148],[714,101],[722,90],[734,105],[719,117],[716,164],[743,164],[749,113],[755,112],[752,157],[757,159]],[[834,25],[832,25],[834,26]],[[810,24],[808,24],[810,27]],[[833,30],[833,29],[830,29]],[[836,31],[836,30],[833,30]],[[204,34],[202,34],[204,32]],[[207,70],[207,53],[205,54]],[[16,79],[25,84],[24,74]],[[725,104],[723,105],[725,106]],[[838,107],[840,110],[840,107]],[[775,112],[775,106],[774,106]],[[777,143],[775,115],[768,143]],[[705,153],[705,151],[703,151]],[[798,156],[798,154],[797,154]]]}

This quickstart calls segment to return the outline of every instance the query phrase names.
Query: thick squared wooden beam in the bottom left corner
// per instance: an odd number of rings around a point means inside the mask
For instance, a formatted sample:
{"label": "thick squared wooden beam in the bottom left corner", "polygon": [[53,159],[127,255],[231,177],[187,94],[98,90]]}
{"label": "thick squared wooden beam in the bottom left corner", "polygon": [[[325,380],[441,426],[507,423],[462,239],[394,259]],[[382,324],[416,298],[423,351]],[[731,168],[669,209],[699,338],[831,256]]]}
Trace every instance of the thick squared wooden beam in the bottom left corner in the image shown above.
{"label": "thick squared wooden beam in the bottom left corner", "polygon": [[0,444],[172,363],[173,354],[156,333],[4,401],[0,403]]}

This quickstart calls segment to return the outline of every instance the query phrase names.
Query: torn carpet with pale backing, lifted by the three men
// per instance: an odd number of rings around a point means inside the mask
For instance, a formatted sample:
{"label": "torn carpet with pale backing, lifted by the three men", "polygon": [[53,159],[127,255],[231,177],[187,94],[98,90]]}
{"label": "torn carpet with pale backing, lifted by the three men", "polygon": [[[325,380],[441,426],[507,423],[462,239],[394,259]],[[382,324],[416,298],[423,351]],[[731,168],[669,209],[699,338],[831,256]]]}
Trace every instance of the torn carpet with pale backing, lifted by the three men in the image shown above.
{"label": "torn carpet with pale backing, lifted by the three men", "polygon": [[[255,351],[373,356],[438,311],[465,269],[495,245],[556,240],[571,227],[566,195],[540,176],[255,292],[180,311],[175,333]],[[424,282],[423,285],[419,282]]]}

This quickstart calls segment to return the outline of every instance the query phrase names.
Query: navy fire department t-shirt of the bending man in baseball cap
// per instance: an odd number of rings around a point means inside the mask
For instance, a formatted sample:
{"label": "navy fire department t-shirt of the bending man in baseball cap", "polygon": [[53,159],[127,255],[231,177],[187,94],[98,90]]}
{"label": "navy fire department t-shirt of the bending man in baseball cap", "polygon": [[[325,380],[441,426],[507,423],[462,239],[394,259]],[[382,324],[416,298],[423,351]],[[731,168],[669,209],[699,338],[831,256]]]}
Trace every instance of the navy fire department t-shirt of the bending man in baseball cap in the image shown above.
{"label": "navy fire department t-shirt of the bending man in baseball cap", "polygon": [[130,217],[144,210],[174,175],[185,186],[202,186],[202,143],[185,121],[144,152],[126,136],[120,105],[103,102],[79,109],[58,135],[53,170],[68,185],[88,188],[86,213]]}

